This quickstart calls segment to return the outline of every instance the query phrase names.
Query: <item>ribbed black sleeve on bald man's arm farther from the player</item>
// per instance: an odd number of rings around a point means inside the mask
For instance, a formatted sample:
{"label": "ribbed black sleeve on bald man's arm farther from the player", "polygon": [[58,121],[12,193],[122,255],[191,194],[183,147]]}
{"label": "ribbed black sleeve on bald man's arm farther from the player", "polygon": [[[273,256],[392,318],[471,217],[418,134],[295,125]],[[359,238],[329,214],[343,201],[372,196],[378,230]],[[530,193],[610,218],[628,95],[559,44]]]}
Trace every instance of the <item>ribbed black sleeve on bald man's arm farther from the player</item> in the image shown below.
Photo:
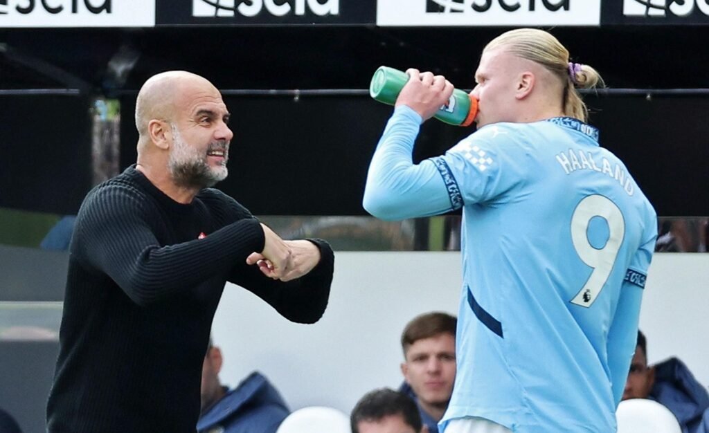
{"label": "ribbed black sleeve on bald man's arm farther from the player", "polygon": [[150,305],[228,271],[264,246],[254,219],[235,221],[203,239],[161,245],[153,231],[159,219],[157,209],[135,189],[96,190],[79,212],[72,254],[107,274],[133,302]]}

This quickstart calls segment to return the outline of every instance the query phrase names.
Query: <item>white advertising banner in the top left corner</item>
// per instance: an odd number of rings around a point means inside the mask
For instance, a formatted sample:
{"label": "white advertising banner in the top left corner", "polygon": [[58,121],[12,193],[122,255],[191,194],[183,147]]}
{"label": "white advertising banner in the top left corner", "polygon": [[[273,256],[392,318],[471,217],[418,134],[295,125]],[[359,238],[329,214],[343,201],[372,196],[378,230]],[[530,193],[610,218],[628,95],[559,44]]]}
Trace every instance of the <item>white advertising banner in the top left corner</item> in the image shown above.
{"label": "white advertising banner in the top left corner", "polygon": [[155,0],[0,1],[0,28],[153,26]]}

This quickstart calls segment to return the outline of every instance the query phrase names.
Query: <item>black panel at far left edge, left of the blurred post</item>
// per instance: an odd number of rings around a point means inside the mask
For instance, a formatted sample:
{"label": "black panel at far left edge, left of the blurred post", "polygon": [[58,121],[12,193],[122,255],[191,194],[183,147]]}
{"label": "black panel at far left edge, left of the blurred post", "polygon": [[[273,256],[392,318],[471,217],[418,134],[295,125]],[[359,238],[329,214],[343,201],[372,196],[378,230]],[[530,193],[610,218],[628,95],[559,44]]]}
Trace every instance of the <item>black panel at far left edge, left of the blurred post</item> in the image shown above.
{"label": "black panel at far left edge, left of the blurred post", "polygon": [[76,213],[91,186],[89,99],[1,96],[0,207]]}

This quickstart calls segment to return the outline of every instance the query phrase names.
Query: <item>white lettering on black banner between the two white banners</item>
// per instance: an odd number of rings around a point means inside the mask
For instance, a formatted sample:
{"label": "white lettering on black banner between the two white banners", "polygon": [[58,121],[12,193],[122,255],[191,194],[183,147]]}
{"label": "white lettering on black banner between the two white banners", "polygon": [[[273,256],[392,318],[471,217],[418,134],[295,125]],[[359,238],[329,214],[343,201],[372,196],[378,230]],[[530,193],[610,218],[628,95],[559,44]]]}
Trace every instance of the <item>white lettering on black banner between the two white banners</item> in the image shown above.
{"label": "white lettering on black banner between the two white banners", "polygon": [[306,11],[317,16],[340,13],[340,0],[192,0],[192,16],[257,16],[264,9],[272,16],[294,14],[303,16]]}

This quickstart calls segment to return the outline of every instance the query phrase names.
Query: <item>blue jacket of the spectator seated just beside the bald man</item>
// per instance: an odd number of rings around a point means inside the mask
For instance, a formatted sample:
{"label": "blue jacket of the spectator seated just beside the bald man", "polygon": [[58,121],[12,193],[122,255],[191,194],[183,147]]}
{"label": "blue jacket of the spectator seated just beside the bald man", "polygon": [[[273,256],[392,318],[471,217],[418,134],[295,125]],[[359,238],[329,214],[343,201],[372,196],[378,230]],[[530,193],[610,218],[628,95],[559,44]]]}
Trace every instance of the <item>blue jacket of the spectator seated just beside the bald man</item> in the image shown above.
{"label": "blue jacket of the spectator seated just beside the bald man", "polygon": [[204,413],[199,433],[275,433],[290,410],[276,388],[253,372]]}

